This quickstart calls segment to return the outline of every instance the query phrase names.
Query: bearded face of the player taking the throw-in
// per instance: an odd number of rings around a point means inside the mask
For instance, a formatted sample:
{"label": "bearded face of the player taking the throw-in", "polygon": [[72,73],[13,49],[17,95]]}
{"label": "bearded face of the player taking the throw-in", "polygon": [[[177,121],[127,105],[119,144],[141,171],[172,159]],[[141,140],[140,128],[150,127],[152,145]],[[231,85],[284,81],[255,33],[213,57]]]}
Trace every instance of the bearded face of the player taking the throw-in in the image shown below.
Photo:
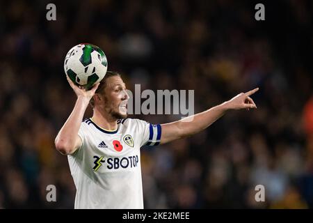
{"label": "bearded face of the player taking the throw-in", "polygon": [[104,111],[110,114],[113,118],[127,117],[127,101],[129,95],[126,91],[125,83],[119,76],[113,76],[106,79],[106,88],[104,94],[101,94],[102,103],[100,106]]}

